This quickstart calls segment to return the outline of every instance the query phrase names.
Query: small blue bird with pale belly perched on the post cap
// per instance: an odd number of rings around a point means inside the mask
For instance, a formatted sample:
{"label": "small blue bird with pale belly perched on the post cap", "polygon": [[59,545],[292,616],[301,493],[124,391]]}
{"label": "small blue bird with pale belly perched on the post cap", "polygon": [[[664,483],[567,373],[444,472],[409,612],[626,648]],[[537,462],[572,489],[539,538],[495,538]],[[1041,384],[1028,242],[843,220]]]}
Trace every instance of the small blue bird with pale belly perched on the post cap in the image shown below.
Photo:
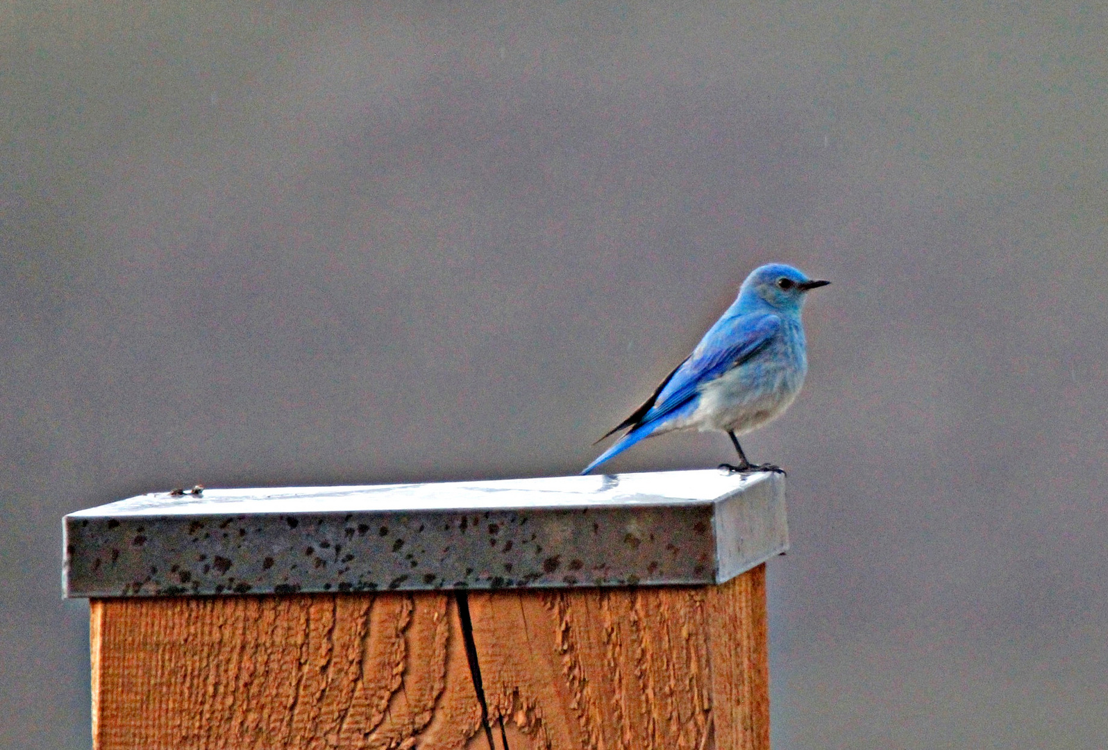
{"label": "small blue bird with pale belly perched on the post cap", "polygon": [[581,473],[587,474],[646,438],[691,429],[720,430],[730,436],[739,463],[720,464],[720,469],[781,471],[773,464],[750,463],[739,435],[778,418],[797,398],[808,372],[800,310],[809,291],[828,284],[782,264],[751,271],[735,302],[693,353],[604,438],[627,432]]}

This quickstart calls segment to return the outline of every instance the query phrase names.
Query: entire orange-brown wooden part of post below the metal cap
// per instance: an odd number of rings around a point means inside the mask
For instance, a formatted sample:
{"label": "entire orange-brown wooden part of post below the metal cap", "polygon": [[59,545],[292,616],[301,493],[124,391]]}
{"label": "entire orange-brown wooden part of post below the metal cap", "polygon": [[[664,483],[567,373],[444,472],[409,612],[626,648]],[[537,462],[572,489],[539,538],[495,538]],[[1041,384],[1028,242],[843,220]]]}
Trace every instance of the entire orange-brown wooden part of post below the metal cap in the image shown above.
{"label": "entire orange-brown wooden part of post below the metal cap", "polygon": [[765,750],[765,567],[721,586],[92,602],[116,748]]}

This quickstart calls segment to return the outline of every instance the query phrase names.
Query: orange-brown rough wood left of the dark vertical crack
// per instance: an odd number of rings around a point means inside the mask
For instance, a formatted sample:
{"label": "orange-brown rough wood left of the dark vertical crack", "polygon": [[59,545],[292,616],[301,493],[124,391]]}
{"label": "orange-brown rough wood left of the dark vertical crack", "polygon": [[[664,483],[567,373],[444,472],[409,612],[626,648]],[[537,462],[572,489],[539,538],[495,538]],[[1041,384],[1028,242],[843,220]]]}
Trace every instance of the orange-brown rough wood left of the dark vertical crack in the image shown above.
{"label": "orange-brown rough wood left of the dark vertical crack", "polygon": [[[449,594],[99,599],[93,743],[462,748],[480,729]],[[460,660],[459,660],[460,659]]]}

